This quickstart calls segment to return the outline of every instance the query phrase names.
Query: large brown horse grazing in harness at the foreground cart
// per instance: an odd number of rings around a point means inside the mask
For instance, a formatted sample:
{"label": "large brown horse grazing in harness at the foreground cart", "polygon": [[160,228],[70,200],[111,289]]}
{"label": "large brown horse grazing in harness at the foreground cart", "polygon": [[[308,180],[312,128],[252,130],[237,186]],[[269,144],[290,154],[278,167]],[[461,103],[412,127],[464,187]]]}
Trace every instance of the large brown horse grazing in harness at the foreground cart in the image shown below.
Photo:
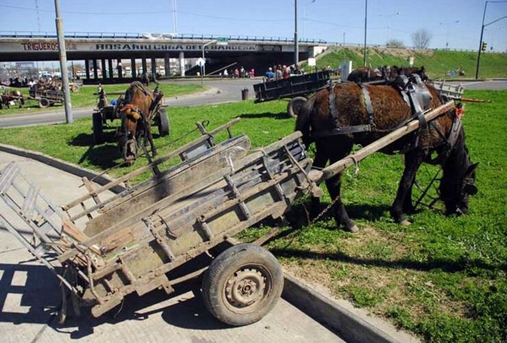
{"label": "large brown horse grazing in harness at the foreground cart", "polygon": [[[327,161],[334,163],[344,158],[351,152],[354,143],[367,145],[384,134],[391,132],[400,124],[412,118],[412,110],[406,104],[397,89],[392,86],[364,86],[369,92],[373,116],[370,116],[364,102],[362,88],[355,83],[345,82],[334,86],[334,103],[336,105],[336,119],[332,117],[330,110],[330,88],[317,92],[304,104],[297,117],[296,130],[303,133],[304,141],[308,146],[315,141],[317,152],[314,159],[314,167],[325,167]],[[436,108],[443,104],[443,99],[438,96],[435,88],[428,86],[432,97],[428,107]],[[409,134],[383,150],[385,153],[404,153],[405,170],[393,202],[391,214],[401,224],[410,224],[406,220],[406,213],[413,211],[412,185],[415,174],[423,161],[429,161],[432,152],[445,155],[438,163],[443,165],[443,178],[439,186],[440,196],[445,202],[447,213],[466,213],[468,199],[477,189],[473,185],[475,181],[475,167],[468,156],[465,145],[465,132],[461,126],[457,131],[457,137],[452,148],[447,148],[449,133],[454,127],[456,120],[454,111],[449,111],[432,121],[428,128],[421,129],[415,134]],[[373,123],[372,123],[373,120]],[[370,123],[374,130],[367,132],[348,134],[319,134],[330,132],[338,127],[360,126]],[[460,123],[460,122],[459,122]],[[336,132],[336,131],[335,131]],[[320,138],[319,138],[320,137]],[[444,138],[446,137],[446,138]],[[334,216],[338,225],[343,224],[346,230],[356,231],[357,226],[350,220],[343,202],[340,198],[341,174],[326,180],[327,189],[332,199],[337,199],[334,204]],[[318,198],[313,200],[314,208],[318,206]]]}

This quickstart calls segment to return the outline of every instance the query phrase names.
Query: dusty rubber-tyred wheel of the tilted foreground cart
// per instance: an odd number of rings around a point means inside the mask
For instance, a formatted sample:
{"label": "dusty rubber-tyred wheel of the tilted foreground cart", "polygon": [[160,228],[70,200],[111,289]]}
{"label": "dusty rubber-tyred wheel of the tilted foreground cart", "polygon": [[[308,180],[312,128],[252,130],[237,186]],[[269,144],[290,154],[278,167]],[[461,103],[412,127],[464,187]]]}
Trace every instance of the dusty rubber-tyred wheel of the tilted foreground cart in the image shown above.
{"label": "dusty rubber-tyred wheel of the tilted foreground cart", "polygon": [[203,277],[204,305],[221,322],[240,326],[257,322],[277,303],[284,288],[280,263],[254,244],[222,252]]}

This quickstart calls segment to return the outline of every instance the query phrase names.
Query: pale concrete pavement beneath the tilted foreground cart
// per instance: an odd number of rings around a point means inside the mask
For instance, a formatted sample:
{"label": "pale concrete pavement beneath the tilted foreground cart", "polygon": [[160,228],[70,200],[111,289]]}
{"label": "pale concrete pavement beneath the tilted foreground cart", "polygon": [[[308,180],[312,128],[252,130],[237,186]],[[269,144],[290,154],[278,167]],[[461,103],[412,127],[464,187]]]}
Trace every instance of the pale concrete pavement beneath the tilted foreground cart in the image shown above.
{"label": "pale concrete pavement beneath the tilted foreground cart", "polygon": [[[71,174],[0,152],[0,170],[10,161],[18,161],[23,173],[58,204],[84,192],[77,188],[79,178]],[[1,200],[0,213],[15,216]],[[23,227],[21,220],[14,222]],[[118,316],[69,318],[59,325],[54,316],[60,304],[56,278],[0,227],[2,342],[343,342],[283,299],[260,322],[227,327],[206,311],[192,289],[195,285],[190,283],[178,287],[171,297],[162,291],[129,296]]]}

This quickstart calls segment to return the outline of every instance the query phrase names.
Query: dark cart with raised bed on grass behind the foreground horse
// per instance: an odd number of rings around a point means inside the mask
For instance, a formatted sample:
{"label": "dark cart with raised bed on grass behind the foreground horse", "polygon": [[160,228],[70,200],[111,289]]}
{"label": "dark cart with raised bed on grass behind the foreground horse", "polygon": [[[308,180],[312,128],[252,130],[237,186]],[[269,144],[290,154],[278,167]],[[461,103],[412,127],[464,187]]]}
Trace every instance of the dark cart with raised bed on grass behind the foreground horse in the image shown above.
{"label": "dark cart with raised bed on grass behind the foreground horse", "polygon": [[317,73],[254,84],[255,102],[269,102],[289,98],[287,113],[291,117],[297,117],[299,108],[306,102],[306,97],[325,87],[330,77],[331,71],[317,71]]}

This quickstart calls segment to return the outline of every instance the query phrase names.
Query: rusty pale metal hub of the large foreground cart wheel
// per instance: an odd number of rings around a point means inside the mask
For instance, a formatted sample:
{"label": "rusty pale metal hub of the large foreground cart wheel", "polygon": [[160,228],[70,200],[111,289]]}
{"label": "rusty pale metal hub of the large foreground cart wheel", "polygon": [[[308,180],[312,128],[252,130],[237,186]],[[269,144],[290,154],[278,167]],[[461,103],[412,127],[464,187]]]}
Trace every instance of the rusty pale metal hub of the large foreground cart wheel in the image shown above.
{"label": "rusty pale metal hub of the large foreground cart wheel", "polygon": [[225,286],[225,296],[234,307],[247,307],[264,295],[265,278],[259,270],[244,268],[235,272]]}

